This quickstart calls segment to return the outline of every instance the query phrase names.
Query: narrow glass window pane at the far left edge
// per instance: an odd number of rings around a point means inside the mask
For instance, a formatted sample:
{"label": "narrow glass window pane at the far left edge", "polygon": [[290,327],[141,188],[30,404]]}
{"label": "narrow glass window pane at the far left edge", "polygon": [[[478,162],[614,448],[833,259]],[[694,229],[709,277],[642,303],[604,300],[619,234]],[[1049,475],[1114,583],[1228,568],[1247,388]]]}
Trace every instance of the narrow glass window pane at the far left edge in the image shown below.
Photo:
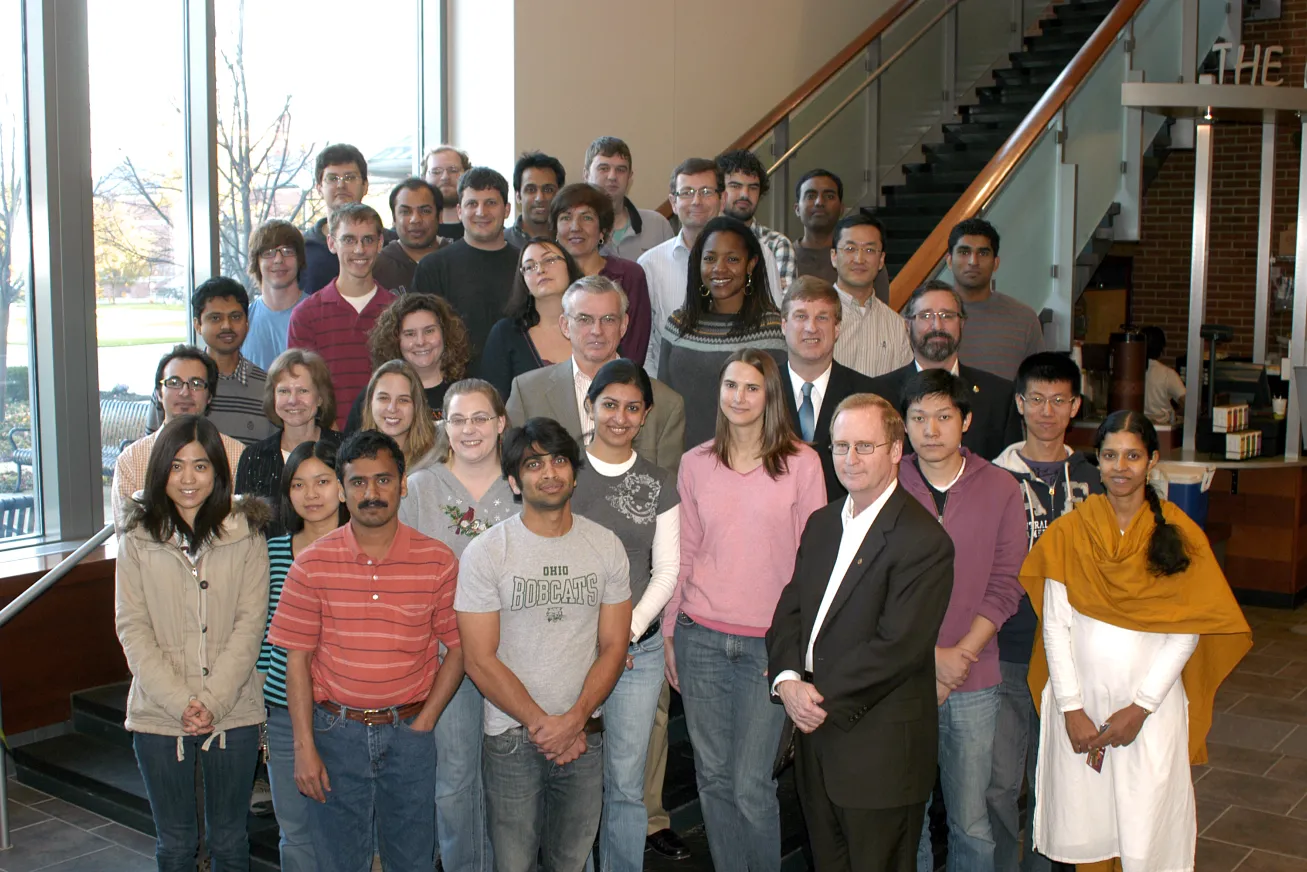
{"label": "narrow glass window pane at the far left edge", "polygon": [[0,13],[0,543],[38,533],[22,5]]}

